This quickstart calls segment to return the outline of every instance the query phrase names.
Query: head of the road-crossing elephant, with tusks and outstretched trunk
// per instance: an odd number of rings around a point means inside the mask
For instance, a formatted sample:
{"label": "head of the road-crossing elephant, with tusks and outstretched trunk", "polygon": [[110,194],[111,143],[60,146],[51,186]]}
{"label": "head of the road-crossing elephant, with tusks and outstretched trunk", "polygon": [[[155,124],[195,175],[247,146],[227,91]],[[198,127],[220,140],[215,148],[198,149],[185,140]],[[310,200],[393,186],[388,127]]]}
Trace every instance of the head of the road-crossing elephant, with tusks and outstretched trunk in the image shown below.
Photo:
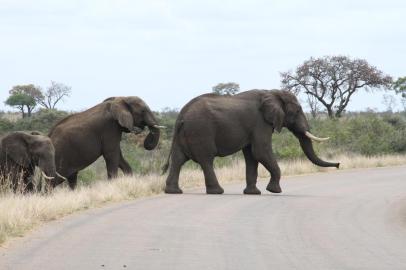
{"label": "head of the road-crossing elephant, with tusks and outstretched trunk", "polygon": [[310,133],[306,116],[294,94],[284,90],[266,91],[260,106],[265,121],[276,131],[280,132],[286,127],[298,138],[303,152],[311,162],[321,167],[339,168],[340,163],[323,161],[314,152],[312,140],[325,141],[328,138],[318,138]]}

